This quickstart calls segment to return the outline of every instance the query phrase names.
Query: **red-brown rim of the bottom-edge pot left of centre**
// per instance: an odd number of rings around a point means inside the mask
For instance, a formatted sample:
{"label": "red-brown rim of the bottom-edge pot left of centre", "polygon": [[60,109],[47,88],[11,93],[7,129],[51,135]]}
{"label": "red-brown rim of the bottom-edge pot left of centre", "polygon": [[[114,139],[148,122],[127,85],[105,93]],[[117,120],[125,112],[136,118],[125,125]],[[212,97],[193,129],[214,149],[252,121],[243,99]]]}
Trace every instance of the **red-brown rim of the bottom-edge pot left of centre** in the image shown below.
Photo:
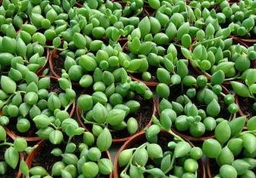
{"label": "red-brown rim of the bottom-edge pot left of centre", "polygon": [[[27,166],[30,168],[31,167],[31,164],[32,164],[32,161],[34,158],[36,158],[36,155],[41,151],[41,149],[43,148],[43,145],[44,143],[46,142],[46,140],[41,140],[40,142],[37,143],[37,147],[34,148],[30,154],[27,156],[26,158],[26,163],[27,163]],[[107,158],[109,158],[109,160],[111,160],[111,156],[109,154],[109,151],[106,151],[106,155],[107,155]],[[23,175],[23,178],[25,178],[25,176]],[[109,174],[109,178],[112,178],[112,173]]]}

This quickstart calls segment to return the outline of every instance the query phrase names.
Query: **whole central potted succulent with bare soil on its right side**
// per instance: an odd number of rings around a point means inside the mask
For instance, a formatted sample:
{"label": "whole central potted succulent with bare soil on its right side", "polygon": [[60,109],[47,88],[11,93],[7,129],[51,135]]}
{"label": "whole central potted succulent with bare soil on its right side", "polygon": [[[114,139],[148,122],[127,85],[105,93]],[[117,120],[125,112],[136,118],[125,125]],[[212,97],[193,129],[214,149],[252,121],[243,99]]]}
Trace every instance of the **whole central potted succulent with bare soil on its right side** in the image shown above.
{"label": "whole central potted succulent with bare soil on its right side", "polygon": [[[122,69],[119,72],[126,73]],[[151,117],[156,113],[150,89],[144,83],[131,81],[127,73],[121,77],[103,72],[102,81],[93,84],[93,92],[85,90],[77,100],[77,118],[81,126],[94,136],[109,128],[114,143],[125,142],[134,133],[150,126]],[[127,81],[122,83],[125,78]]]}

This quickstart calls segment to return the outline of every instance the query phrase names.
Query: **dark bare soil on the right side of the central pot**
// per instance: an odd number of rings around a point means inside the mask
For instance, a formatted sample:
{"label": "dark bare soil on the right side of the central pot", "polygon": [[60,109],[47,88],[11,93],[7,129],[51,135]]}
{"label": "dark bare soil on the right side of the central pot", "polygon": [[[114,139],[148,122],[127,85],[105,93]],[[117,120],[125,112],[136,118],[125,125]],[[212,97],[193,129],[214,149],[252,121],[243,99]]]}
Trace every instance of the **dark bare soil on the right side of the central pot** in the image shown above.
{"label": "dark bare soil on the right side of the central pot", "polygon": [[[134,117],[135,119],[137,119],[137,132],[139,132],[143,130],[151,120],[153,114],[153,103],[151,101],[144,100],[144,98],[141,97],[141,95],[137,95],[134,98],[134,100],[138,101],[141,104],[141,107],[136,113],[129,114],[126,118]],[[117,132],[112,132],[113,139],[122,139],[128,136],[130,136],[130,134],[126,129]]]}

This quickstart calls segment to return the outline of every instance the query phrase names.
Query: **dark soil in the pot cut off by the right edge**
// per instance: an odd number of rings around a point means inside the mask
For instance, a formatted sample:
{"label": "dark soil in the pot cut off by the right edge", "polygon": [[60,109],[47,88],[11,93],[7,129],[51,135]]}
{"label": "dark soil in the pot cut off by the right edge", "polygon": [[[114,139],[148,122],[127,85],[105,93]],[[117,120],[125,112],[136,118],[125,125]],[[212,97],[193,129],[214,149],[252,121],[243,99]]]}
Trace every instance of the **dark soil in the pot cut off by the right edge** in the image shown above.
{"label": "dark soil in the pot cut off by the right edge", "polygon": [[246,117],[251,118],[256,116],[256,111],[252,108],[254,100],[251,98],[239,97],[239,106]]}

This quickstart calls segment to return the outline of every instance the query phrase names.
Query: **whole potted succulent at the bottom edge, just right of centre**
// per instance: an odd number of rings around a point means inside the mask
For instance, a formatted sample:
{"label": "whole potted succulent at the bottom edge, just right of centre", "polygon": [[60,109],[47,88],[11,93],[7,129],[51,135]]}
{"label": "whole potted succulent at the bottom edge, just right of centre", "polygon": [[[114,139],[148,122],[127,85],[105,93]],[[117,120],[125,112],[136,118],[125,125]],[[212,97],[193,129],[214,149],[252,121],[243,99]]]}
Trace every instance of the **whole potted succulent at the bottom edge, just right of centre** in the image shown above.
{"label": "whole potted succulent at the bottom edge, just right of centre", "polygon": [[171,130],[152,125],[122,145],[115,157],[114,177],[206,177],[202,154],[201,148]]}

